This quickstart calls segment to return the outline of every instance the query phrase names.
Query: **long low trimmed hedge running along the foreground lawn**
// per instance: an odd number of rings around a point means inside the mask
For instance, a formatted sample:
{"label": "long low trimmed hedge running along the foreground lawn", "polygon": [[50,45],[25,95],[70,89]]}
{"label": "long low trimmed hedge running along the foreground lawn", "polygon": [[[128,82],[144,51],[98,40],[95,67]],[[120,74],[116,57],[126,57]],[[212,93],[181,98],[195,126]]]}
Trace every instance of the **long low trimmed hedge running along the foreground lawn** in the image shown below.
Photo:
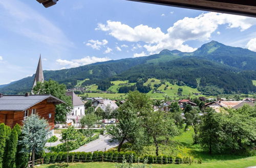
{"label": "long low trimmed hedge running along the foreground lawn", "polygon": [[[131,162],[133,155],[133,163],[141,162],[147,160],[147,163],[150,164],[170,164],[170,163],[191,163],[191,158],[189,157],[173,157],[173,156],[152,156],[144,155],[138,156],[135,152],[70,152],[69,153],[69,162],[122,162],[123,158],[127,162]],[[67,152],[51,152],[44,154],[44,163],[56,163],[56,162],[67,162]]]}

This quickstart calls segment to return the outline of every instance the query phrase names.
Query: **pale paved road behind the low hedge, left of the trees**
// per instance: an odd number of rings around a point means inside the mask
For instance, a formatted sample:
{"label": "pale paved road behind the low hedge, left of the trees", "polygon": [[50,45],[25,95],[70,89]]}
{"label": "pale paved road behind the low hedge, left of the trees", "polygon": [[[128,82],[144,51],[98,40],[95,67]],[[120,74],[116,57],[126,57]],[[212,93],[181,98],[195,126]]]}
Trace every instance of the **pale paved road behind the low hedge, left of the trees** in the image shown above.
{"label": "pale paved road behind the low hedge, left of the trees", "polygon": [[106,148],[106,150],[109,150],[110,148],[114,148],[118,146],[117,143],[110,143],[110,136],[108,135],[99,135],[99,138],[95,141],[92,141],[84,146],[81,146],[80,148],[72,151],[72,152],[94,152],[102,148]]}

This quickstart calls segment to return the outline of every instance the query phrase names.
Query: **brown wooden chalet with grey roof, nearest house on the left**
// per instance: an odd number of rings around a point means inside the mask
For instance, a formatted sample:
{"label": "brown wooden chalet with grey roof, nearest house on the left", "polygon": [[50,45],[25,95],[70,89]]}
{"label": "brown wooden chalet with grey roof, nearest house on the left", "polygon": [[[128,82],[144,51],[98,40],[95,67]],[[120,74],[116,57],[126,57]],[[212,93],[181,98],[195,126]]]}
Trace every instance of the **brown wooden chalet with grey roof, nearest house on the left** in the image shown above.
{"label": "brown wooden chalet with grey roof, nearest house on the left", "polygon": [[3,95],[0,94],[0,123],[11,128],[17,123],[23,125],[34,114],[48,121],[50,134],[53,135],[55,105],[65,103],[52,95]]}

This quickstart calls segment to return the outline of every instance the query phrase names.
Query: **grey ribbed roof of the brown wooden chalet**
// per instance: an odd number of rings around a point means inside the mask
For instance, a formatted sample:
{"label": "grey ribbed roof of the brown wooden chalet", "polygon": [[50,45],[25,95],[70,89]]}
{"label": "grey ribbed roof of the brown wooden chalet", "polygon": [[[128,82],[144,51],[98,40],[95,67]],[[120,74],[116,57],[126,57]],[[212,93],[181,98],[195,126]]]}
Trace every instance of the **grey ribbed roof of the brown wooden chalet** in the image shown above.
{"label": "grey ribbed roof of the brown wooden chalet", "polygon": [[0,111],[24,111],[46,99],[57,104],[65,103],[52,95],[4,95],[0,98]]}

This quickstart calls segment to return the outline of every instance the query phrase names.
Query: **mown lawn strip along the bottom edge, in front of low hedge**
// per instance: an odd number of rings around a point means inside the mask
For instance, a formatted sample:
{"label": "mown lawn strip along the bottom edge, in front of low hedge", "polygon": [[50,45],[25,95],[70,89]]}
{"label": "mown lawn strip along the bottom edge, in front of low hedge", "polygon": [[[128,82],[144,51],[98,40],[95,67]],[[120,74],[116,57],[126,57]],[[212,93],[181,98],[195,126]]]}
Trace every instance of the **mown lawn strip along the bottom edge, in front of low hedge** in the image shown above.
{"label": "mown lawn strip along the bottom edge, in front of low hedge", "polygon": [[[67,166],[66,163],[57,163],[57,164],[43,164],[40,165],[40,168],[60,168],[60,167],[73,167],[73,168],[82,168],[82,167],[115,167],[116,163],[108,163],[108,162],[91,162],[91,163],[70,163]],[[248,157],[243,159],[234,159],[234,160],[226,160],[226,161],[215,161],[209,163],[197,164],[193,163],[191,165],[188,164],[153,164],[153,167],[248,167],[256,165],[256,157]]]}

